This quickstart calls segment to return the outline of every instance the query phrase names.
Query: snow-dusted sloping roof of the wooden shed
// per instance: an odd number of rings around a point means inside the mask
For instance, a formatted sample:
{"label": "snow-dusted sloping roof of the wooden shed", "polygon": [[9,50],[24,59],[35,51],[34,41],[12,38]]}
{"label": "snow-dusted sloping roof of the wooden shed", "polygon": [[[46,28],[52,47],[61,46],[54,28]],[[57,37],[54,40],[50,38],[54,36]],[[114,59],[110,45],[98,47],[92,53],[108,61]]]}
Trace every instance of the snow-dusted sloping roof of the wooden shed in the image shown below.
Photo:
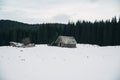
{"label": "snow-dusted sloping roof of the wooden shed", "polygon": [[59,36],[56,43],[63,42],[64,44],[76,44],[76,40],[73,36]]}

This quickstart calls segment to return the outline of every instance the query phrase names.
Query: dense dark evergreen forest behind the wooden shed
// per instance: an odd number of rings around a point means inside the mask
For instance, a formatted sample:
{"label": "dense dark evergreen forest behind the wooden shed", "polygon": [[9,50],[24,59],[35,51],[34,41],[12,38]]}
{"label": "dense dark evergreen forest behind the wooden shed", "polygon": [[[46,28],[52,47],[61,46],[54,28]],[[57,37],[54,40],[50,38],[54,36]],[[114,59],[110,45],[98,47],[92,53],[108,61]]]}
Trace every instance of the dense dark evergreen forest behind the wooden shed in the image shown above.
{"label": "dense dark evergreen forest behind the wooden shed", "polygon": [[77,21],[68,24],[26,24],[0,20],[0,46],[29,37],[32,43],[50,44],[59,35],[74,36],[78,43],[100,46],[120,45],[120,18],[106,21]]}

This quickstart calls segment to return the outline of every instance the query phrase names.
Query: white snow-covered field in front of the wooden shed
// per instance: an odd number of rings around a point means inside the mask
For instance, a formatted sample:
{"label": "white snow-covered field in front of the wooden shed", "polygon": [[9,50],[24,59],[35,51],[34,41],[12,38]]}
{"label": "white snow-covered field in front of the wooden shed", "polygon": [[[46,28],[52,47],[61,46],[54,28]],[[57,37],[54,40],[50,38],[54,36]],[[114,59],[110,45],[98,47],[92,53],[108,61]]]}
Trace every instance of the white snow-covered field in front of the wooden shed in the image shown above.
{"label": "white snow-covered field in front of the wooden shed", "polygon": [[120,80],[120,46],[3,46],[0,80]]}

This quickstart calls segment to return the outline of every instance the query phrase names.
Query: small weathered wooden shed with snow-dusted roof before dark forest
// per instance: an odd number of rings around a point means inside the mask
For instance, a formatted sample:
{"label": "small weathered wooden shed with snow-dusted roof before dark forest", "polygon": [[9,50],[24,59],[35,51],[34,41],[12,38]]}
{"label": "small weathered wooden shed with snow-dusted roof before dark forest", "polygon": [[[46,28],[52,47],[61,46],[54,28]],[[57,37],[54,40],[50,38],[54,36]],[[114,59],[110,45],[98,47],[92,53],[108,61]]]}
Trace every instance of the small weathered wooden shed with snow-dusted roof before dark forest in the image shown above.
{"label": "small weathered wooden shed with snow-dusted roof before dark forest", "polygon": [[59,36],[55,44],[59,47],[76,48],[77,41],[73,36]]}

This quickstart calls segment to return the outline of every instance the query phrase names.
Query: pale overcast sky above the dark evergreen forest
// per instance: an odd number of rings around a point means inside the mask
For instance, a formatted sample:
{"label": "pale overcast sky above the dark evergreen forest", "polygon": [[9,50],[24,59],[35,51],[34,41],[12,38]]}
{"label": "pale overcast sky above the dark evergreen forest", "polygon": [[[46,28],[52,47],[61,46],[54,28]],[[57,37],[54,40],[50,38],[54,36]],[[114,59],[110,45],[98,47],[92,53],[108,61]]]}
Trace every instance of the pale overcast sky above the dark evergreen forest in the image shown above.
{"label": "pale overcast sky above the dark evergreen forest", "polygon": [[120,16],[120,0],[0,0],[0,19],[67,23]]}

